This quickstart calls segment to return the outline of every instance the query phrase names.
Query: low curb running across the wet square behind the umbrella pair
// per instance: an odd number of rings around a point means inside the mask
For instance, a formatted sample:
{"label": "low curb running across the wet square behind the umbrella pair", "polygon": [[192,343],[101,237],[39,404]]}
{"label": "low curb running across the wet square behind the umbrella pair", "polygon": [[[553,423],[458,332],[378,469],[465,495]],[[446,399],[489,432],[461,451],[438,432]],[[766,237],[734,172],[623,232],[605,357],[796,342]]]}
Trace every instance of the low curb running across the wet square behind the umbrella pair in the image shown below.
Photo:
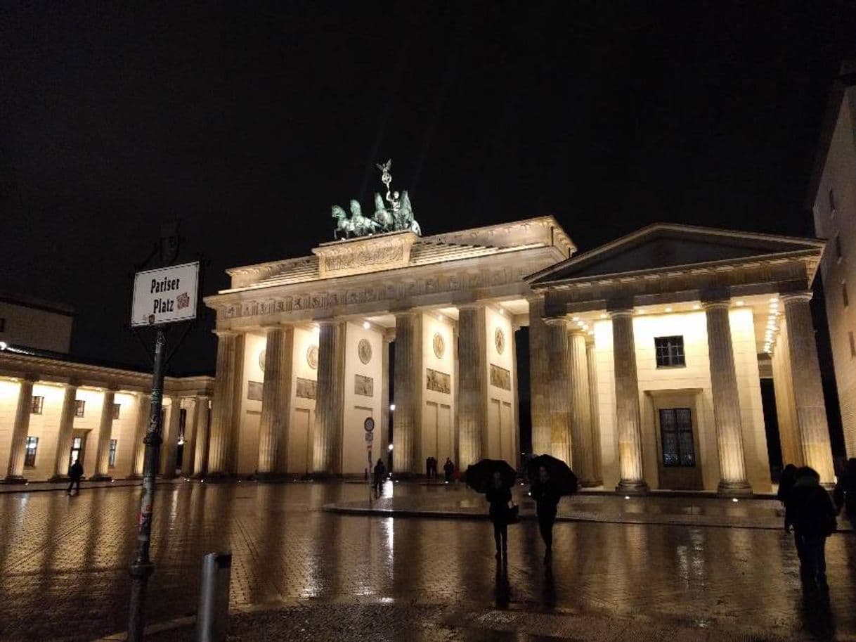
{"label": "low curb running across the wet square behind the umbrella pair", "polygon": [[[360,508],[357,506],[345,506],[342,504],[325,504],[322,510],[328,513],[361,515],[363,517],[418,517],[434,520],[489,520],[490,517],[486,513],[466,513],[450,510],[425,510],[419,508]],[[710,516],[707,519],[704,515],[688,515],[681,517],[675,515],[674,518],[667,518],[659,515],[615,515],[615,514],[576,514],[573,516],[557,515],[556,521],[562,522],[586,522],[599,524],[632,524],[632,525],[648,525],[648,526],[699,526],[704,528],[746,528],[750,530],[761,531],[781,531],[781,522],[776,525],[761,523],[756,520],[746,521],[746,523],[723,523],[721,516]],[[535,514],[521,514],[521,521],[535,521]],[[843,520],[839,520],[838,531],[850,532],[850,527]]]}

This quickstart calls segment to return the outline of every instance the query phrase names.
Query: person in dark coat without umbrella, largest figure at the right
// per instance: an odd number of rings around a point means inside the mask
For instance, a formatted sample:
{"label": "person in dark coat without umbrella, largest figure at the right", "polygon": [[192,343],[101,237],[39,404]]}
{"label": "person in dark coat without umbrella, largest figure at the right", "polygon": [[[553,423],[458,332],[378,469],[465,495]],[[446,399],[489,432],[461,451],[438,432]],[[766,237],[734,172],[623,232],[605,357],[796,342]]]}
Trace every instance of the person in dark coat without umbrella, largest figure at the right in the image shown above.
{"label": "person in dark coat without umbrella, largest figure at the right", "polygon": [[829,589],[826,583],[826,538],[835,532],[835,506],[813,468],[801,467],[790,492],[790,519],[800,556],[805,586]]}

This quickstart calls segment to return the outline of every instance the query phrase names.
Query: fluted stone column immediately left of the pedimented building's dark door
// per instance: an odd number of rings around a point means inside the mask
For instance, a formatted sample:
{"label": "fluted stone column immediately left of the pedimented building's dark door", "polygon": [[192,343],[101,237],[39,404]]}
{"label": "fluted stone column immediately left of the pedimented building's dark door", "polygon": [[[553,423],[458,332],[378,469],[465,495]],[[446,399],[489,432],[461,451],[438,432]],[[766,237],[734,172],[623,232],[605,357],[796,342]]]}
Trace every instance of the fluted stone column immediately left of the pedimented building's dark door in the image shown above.
{"label": "fluted stone column immediately left of the pedimented building's dark door", "polygon": [[615,428],[618,433],[618,463],[623,493],[647,492],[642,468],[642,427],[639,422],[639,379],[636,374],[636,344],[633,342],[633,311],[614,310],[612,354],[615,360]]}

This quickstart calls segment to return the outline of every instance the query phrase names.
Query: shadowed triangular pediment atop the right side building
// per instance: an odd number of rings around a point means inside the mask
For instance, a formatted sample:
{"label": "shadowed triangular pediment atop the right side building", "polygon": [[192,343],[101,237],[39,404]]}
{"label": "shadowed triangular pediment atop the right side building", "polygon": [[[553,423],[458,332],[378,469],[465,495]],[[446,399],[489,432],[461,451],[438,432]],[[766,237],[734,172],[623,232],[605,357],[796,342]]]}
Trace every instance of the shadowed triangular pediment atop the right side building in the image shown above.
{"label": "shadowed triangular pediment atop the right side building", "polygon": [[816,253],[823,241],[655,223],[529,276],[533,286],[570,279],[740,262],[789,253]]}

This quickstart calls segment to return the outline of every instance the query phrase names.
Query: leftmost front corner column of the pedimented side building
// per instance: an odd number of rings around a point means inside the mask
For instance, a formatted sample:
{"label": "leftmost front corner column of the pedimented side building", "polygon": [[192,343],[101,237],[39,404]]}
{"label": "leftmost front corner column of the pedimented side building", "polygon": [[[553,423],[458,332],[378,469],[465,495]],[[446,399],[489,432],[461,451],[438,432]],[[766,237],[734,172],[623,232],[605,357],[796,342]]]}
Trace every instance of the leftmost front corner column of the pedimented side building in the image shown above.
{"label": "leftmost front corner column of the pedimented side building", "polygon": [[545,318],[548,367],[550,372],[550,452],[569,467],[576,467],[571,455],[571,395],[568,375],[568,323],[564,317]]}

